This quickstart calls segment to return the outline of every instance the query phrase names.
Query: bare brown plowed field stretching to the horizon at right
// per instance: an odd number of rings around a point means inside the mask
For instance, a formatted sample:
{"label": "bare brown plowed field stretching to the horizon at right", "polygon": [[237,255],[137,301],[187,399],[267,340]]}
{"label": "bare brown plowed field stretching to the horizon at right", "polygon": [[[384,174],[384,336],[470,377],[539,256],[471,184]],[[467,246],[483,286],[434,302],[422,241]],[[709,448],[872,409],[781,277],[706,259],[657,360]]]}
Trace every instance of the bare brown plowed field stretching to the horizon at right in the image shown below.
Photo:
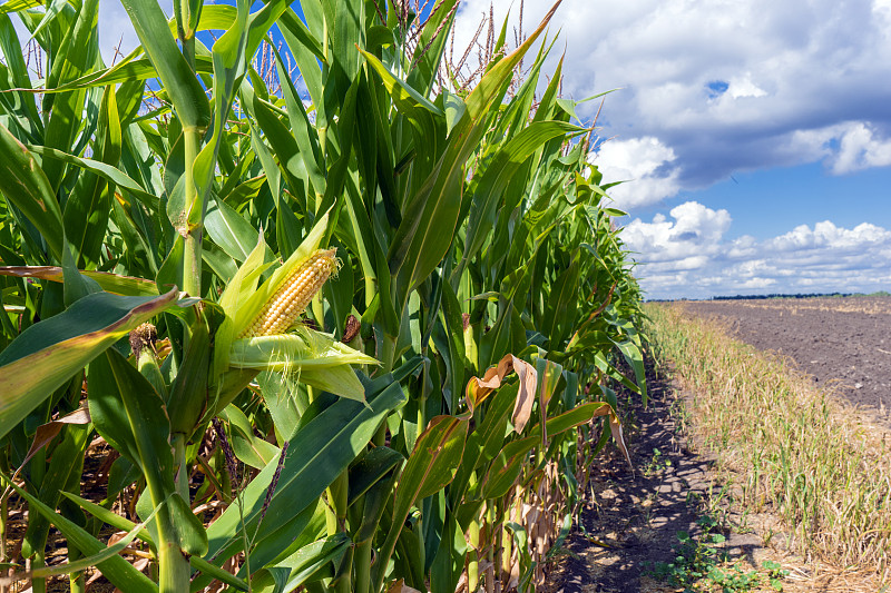
{"label": "bare brown plowed field stretching to the horizon at right", "polygon": [[687,302],[731,335],[785,355],[815,382],[891,423],[891,297]]}

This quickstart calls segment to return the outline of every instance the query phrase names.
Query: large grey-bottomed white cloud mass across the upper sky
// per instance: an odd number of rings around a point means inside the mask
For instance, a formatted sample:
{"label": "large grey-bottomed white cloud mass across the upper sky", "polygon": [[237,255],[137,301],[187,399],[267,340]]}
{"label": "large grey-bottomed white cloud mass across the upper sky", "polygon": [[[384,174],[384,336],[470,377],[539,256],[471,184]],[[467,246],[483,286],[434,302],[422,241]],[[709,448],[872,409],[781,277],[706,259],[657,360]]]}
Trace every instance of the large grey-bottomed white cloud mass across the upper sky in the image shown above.
{"label": "large grey-bottomed white cloud mass across the upper sky", "polygon": [[[489,3],[462,2],[458,47]],[[527,32],[550,3],[526,2]],[[508,9],[516,19],[518,8],[495,0],[496,21]],[[843,175],[891,165],[889,0],[564,0],[550,26],[558,30],[555,53],[565,49],[571,66],[565,95],[621,89],[598,120],[601,136],[618,138],[603,146],[605,157],[664,151],[657,171],[618,171],[640,186],[617,192],[626,204],[655,204],[737,170],[822,161]],[[593,118],[597,107],[578,111]]]}

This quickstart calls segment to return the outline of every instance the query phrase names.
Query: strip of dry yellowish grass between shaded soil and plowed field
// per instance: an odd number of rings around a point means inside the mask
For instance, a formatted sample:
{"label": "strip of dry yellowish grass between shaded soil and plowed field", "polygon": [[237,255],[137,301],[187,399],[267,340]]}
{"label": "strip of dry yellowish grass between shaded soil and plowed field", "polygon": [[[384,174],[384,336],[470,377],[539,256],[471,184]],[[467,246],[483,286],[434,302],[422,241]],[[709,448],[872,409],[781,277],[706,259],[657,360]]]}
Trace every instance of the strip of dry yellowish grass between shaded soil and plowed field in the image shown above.
{"label": "strip of dry yellowish grass between shaded soil and plowed field", "polygon": [[741,501],[784,522],[792,546],[819,561],[813,591],[891,583],[889,435],[817,389],[783,359],[730,338],[677,305],[649,305],[656,357],[695,391],[697,441],[735,475]]}

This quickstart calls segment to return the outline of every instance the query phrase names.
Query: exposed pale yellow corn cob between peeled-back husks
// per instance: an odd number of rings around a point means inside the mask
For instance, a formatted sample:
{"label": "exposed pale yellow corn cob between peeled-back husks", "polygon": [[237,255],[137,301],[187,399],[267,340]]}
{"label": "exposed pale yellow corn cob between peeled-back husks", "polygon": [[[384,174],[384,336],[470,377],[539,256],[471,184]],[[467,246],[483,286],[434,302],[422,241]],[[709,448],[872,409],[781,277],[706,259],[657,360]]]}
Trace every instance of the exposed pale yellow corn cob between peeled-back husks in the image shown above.
{"label": "exposed pale yellow corn cob between peeled-back husks", "polygon": [[275,291],[238,337],[274,336],[294,325],[322,285],[337,269],[336,249],[319,249]]}

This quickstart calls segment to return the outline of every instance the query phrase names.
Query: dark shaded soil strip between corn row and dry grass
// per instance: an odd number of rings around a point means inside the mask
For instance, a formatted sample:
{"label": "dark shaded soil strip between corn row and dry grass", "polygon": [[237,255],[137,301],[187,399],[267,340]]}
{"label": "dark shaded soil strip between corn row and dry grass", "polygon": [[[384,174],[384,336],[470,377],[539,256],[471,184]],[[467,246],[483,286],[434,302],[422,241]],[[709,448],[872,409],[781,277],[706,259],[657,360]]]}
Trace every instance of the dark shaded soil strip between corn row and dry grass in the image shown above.
{"label": "dark shaded soil strip between corn row and dry grass", "polygon": [[[548,593],[638,593],[681,591],[653,573],[672,562],[678,532],[697,537],[705,516],[718,521],[723,550],[746,571],[776,559],[751,525],[728,507],[730,493],[714,482],[712,461],[692,451],[678,423],[678,402],[666,380],[648,377],[649,405],[634,396],[625,408],[626,443],[634,472],[618,455],[605,455],[591,472],[589,502],[566,554],[548,579]],[[593,496],[590,495],[593,494]]]}

